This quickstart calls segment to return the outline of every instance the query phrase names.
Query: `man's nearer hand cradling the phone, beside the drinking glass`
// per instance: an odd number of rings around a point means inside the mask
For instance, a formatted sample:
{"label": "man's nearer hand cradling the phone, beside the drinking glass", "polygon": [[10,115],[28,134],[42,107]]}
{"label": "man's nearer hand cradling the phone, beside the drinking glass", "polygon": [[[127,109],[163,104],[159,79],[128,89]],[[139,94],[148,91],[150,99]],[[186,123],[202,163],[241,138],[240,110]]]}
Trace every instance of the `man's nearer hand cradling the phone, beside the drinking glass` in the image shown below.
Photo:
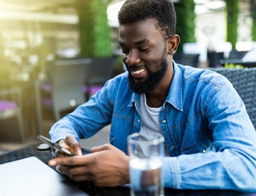
{"label": "man's nearer hand cradling the phone, beside the drinking glass", "polygon": [[49,165],[75,181],[88,180],[96,186],[129,183],[129,157],[111,144],[93,147],[88,155],[55,158]]}

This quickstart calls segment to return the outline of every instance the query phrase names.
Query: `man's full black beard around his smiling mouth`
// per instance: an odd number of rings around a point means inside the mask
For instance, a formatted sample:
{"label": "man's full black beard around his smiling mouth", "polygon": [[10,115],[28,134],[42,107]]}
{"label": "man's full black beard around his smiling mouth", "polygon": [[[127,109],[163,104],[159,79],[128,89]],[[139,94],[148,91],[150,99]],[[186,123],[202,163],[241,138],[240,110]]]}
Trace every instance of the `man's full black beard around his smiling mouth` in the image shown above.
{"label": "man's full black beard around his smiling mouth", "polygon": [[165,76],[167,67],[167,60],[164,58],[164,56],[162,56],[160,61],[160,70],[153,72],[149,70],[148,67],[145,67],[145,69],[148,71],[148,78],[146,78],[145,81],[136,81],[129,71],[128,85],[130,89],[134,92],[137,92],[138,94],[151,92],[151,90],[155,89],[162,81],[163,77]]}

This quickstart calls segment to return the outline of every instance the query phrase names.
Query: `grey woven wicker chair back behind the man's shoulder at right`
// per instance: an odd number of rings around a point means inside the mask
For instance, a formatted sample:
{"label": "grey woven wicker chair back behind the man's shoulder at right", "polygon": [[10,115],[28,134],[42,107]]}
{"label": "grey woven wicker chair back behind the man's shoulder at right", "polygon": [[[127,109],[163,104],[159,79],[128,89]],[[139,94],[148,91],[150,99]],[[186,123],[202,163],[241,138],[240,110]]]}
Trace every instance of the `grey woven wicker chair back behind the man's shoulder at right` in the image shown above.
{"label": "grey woven wicker chair back behind the man's shoulder at right", "polygon": [[246,105],[246,110],[256,128],[256,67],[243,69],[211,69],[224,75],[233,84],[240,98]]}

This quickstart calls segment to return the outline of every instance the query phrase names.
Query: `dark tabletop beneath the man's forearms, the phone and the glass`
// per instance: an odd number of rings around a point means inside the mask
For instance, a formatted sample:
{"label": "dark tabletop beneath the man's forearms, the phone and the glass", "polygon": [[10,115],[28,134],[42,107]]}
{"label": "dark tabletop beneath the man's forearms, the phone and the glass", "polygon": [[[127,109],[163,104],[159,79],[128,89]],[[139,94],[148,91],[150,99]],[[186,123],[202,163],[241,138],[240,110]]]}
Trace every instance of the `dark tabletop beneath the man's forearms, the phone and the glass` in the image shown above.
{"label": "dark tabletop beneath the man's forearms, the phone and the glass", "polygon": [[[24,146],[20,149],[15,149],[10,152],[4,152],[0,154],[0,164],[1,163],[8,163],[10,161],[19,160],[22,158],[28,158],[34,156],[42,160],[43,163],[47,164],[48,161],[52,158],[51,151],[40,151],[37,149],[37,146],[40,143],[33,143],[28,146]],[[85,152],[89,151],[85,149]],[[54,169],[54,168],[53,168]],[[90,182],[81,182],[81,183],[74,183],[70,180],[70,183],[73,183],[75,186],[79,187],[82,191],[86,192],[88,195],[92,196],[130,196],[130,189],[128,186],[119,186],[119,187],[96,187],[93,183]],[[172,196],[183,196],[183,195],[194,195],[194,196],[246,196],[246,195],[256,195],[256,194],[249,194],[243,192],[236,192],[236,191],[229,191],[229,190],[177,190],[177,189],[165,189],[165,196],[172,195]]]}

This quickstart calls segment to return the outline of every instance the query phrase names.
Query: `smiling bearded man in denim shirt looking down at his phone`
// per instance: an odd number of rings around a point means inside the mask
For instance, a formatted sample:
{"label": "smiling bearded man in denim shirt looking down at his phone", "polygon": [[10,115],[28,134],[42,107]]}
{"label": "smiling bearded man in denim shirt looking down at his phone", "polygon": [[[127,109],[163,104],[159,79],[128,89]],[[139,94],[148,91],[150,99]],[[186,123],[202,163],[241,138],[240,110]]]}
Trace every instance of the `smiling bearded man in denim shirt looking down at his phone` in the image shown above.
{"label": "smiling bearded man in denim shirt looking down at his phone", "polygon": [[[73,180],[129,183],[126,138],[165,138],[165,187],[256,191],[256,135],[232,84],[209,70],[176,64],[180,42],[171,0],[127,0],[119,45],[128,72],[56,122],[51,138],[76,155],[50,160]],[[111,124],[110,143],[82,156],[79,138]]]}

